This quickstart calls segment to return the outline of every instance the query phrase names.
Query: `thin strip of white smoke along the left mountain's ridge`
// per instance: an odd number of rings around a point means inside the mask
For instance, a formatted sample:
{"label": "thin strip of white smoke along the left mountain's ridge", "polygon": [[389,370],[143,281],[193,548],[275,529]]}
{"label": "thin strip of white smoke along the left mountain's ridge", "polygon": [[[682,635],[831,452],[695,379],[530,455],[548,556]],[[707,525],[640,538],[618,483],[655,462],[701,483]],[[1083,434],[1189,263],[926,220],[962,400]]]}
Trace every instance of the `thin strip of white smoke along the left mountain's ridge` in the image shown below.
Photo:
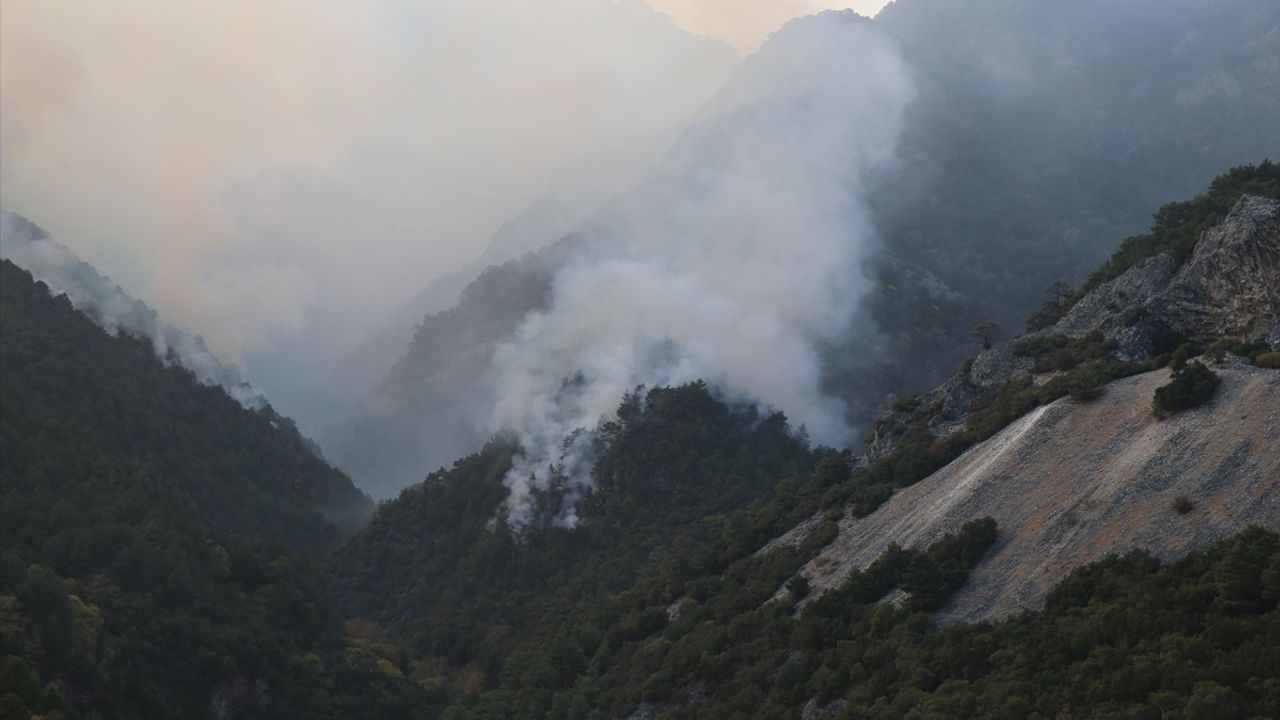
{"label": "thin strip of white smoke along the left mountain's ridge", "polygon": [[205,341],[160,320],[146,302],[129,296],[74,252],[22,218],[0,210],[0,258],[26,269],[93,319],[110,334],[150,340],[165,364],[177,364],[204,384],[221,387],[233,400],[253,410],[266,396],[241,378],[239,370],[219,360]]}

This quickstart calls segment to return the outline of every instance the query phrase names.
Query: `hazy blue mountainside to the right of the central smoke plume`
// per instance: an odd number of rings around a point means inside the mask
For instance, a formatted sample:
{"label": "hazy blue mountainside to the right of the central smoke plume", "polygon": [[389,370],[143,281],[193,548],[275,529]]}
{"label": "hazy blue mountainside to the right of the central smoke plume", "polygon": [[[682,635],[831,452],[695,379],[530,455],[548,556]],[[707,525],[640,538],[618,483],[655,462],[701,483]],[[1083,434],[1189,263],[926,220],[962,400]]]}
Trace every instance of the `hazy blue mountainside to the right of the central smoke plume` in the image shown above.
{"label": "hazy blue mountainside to the right of the central smoke plume", "polygon": [[1266,0],[897,0],[876,23],[918,92],[873,184],[886,252],[864,322],[881,337],[850,333],[829,361],[863,419],[950,375],[975,323],[1016,333],[1167,199],[1280,154]]}

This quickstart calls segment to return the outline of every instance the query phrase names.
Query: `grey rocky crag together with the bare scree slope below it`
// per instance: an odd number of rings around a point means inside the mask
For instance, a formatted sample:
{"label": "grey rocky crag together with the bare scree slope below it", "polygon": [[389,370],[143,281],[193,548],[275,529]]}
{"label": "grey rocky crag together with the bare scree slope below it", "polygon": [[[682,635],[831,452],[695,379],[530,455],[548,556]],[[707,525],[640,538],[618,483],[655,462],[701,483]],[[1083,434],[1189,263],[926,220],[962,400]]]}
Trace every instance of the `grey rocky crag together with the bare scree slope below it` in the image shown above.
{"label": "grey rocky crag together with the bare scree slope below it", "polygon": [[[1183,341],[1231,338],[1275,350],[1277,328],[1280,200],[1245,195],[1185,259],[1142,260],[1055,325],[1000,343],[929,393],[895,404],[855,466],[901,451],[922,430],[947,438],[1007,383],[1059,374],[1023,351],[1029,341],[1092,342],[1106,348],[1100,361],[1119,364]],[[813,597],[891,543],[923,547],[980,516],[998,523],[1000,541],[942,621],[1036,609],[1073,568],[1110,553],[1144,548],[1170,560],[1249,524],[1280,529],[1280,372],[1230,356],[1203,361],[1221,378],[1207,406],[1158,420],[1152,396],[1170,372],[1128,377],[1103,386],[1101,397],[1032,410],[865,518],[846,509],[838,536],[801,571],[818,591]],[[796,544],[819,521],[771,546]]]}

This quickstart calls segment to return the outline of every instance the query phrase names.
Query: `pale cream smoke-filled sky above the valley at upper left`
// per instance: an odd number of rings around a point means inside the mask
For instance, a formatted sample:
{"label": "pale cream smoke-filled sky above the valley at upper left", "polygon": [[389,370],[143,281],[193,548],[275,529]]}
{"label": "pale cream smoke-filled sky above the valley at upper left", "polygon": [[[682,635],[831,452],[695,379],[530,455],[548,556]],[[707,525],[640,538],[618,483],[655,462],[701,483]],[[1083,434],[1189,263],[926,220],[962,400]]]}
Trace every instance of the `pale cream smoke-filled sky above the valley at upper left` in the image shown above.
{"label": "pale cream smoke-filled sky above the valley at upper left", "polygon": [[233,359],[353,342],[628,187],[788,18],[881,4],[5,0],[0,201]]}

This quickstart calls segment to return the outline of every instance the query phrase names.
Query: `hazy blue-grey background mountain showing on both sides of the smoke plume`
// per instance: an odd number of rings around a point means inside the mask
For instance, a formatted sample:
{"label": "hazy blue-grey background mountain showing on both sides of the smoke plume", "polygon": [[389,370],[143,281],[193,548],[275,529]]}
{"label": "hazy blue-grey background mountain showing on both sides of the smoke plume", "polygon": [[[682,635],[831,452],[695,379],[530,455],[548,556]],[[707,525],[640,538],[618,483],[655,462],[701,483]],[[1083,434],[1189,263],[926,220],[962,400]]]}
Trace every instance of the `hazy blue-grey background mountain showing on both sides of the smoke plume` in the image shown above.
{"label": "hazy blue-grey background mountain showing on both sides of the smoke plume", "polygon": [[[796,20],[756,59],[778,56],[771,45],[804,27],[854,20]],[[1280,155],[1280,9],[1266,0],[899,0],[873,24],[895,38],[915,100],[896,158],[867,179],[881,238],[861,268],[867,301],[820,347],[824,389],[854,427],[874,420],[886,393],[945,380],[973,347],[974,324],[1016,332],[1046,288],[1084,282],[1164,199],[1189,195],[1220,168]],[[751,72],[808,72],[767,64]],[[481,275],[456,307],[426,316],[397,369],[325,436],[335,461],[389,495],[422,468],[479,448],[485,366],[522,319],[545,309],[559,261],[548,260],[612,242],[611,218],[628,201],[667,199],[645,214],[660,222],[696,195],[680,188],[730,172],[731,133],[712,108],[573,241],[506,263],[504,282]],[[451,369],[460,357],[471,364],[465,372]]]}

